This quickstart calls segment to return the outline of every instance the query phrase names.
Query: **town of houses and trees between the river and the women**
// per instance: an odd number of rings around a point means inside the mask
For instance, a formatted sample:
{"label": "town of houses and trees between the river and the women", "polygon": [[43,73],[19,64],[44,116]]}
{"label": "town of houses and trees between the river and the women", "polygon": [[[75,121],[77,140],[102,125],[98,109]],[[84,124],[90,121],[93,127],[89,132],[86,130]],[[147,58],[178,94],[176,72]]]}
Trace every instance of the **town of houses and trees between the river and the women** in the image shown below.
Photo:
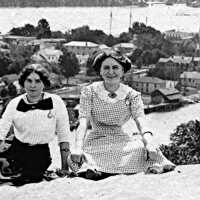
{"label": "town of houses and trees between the river and the women", "polygon": [[[62,33],[51,31],[46,19],[0,35],[0,100],[23,92],[18,73],[27,63],[43,63],[51,72],[49,91],[59,94],[71,113],[83,85],[99,80],[91,68],[94,52],[117,49],[132,61],[124,82],[142,93],[146,113],[168,111],[199,102],[200,34],[176,30],[160,32],[134,22],[118,37],[82,26]],[[73,116],[70,115],[72,121]]]}

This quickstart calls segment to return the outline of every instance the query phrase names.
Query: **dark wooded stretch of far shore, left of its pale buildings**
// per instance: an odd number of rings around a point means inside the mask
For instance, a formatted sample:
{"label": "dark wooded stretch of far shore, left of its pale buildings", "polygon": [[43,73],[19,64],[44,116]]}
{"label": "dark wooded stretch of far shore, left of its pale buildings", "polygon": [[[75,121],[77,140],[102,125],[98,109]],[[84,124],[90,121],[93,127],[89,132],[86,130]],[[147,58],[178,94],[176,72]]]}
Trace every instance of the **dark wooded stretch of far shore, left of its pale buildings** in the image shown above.
{"label": "dark wooded stretch of far shore, left of its pale buildings", "polygon": [[1,0],[0,7],[126,6],[138,0]]}

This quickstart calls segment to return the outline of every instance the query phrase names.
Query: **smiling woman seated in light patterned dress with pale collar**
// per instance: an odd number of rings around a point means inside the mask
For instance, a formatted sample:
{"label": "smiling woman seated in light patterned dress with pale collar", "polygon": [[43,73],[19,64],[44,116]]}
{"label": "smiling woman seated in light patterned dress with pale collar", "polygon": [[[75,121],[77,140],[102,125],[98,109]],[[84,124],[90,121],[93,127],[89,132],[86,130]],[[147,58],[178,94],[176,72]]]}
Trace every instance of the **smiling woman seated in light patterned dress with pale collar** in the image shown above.
{"label": "smiling woman seated in light patterned dress with pale collar", "polygon": [[[92,67],[103,81],[85,86],[80,98],[77,154],[88,158],[91,168],[86,178],[173,170],[175,165],[164,157],[145,126],[141,94],[121,83],[131,68],[129,59],[116,51],[99,52]],[[122,130],[130,118],[138,128],[132,136]],[[88,121],[92,130],[86,134]]]}

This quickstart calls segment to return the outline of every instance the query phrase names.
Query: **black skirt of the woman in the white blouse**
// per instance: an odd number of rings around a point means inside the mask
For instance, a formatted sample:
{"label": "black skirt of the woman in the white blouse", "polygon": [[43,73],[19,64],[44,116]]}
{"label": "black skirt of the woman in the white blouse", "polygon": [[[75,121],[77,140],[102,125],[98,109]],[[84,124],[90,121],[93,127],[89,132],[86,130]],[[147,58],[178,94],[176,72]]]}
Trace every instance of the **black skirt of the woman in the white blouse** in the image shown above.
{"label": "black skirt of the woman in the white blouse", "polygon": [[41,178],[51,164],[48,144],[29,145],[14,138],[11,147],[0,153],[6,158],[13,171],[20,171],[27,178]]}

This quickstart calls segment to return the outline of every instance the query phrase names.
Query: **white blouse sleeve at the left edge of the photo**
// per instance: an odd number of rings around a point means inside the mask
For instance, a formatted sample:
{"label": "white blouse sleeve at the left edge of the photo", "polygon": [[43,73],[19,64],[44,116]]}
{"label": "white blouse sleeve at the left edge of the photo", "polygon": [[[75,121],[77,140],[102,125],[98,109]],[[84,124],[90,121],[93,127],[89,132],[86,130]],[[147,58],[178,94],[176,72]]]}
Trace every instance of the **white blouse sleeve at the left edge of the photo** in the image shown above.
{"label": "white blouse sleeve at the left edge of the photo", "polygon": [[13,123],[13,115],[16,111],[16,105],[10,101],[0,119],[0,140],[4,140]]}

